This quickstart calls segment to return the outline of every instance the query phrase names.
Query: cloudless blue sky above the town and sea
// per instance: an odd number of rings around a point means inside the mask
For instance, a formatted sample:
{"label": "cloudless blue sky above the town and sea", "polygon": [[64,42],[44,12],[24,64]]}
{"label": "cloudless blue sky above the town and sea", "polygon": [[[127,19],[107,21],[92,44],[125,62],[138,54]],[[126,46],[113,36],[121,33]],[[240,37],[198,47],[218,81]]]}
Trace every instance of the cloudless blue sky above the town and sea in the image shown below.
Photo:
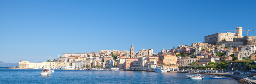
{"label": "cloudless blue sky above the town and sea", "polygon": [[42,62],[49,52],[56,59],[131,44],[158,53],[237,25],[256,30],[255,0],[0,0],[0,61]]}

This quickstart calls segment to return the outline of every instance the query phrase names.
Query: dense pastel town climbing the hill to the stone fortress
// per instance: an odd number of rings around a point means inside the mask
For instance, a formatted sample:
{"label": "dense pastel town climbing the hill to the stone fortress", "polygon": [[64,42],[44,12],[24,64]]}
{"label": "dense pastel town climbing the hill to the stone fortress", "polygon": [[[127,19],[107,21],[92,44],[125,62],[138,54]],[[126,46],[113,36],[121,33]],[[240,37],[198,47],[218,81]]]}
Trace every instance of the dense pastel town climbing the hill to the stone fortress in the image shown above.
{"label": "dense pastel town climbing the hill to the stone fortress", "polygon": [[123,51],[100,50],[90,53],[63,53],[57,59],[42,63],[20,61],[18,68],[73,66],[76,69],[153,70],[157,66],[162,66],[170,70],[192,68],[231,71],[234,68],[234,70],[246,71],[246,68],[237,67],[236,69],[231,65],[232,62],[247,62],[256,59],[256,36],[242,36],[243,28],[237,27],[236,29],[237,33],[207,35],[204,36],[203,43],[181,44],[172,49],[162,49],[158,53],[154,53],[153,49],[141,49],[135,52],[136,46],[131,45],[130,50]]}

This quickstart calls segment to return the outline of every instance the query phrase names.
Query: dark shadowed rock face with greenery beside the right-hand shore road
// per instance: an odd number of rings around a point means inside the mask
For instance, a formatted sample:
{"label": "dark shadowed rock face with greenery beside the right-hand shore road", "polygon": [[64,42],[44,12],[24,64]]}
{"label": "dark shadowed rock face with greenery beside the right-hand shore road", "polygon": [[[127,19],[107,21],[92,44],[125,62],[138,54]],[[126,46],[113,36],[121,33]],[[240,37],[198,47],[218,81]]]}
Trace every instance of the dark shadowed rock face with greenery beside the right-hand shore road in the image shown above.
{"label": "dark shadowed rock face with greenery beside the right-hand shore road", "polygon": [[245,62],[236,62],[235,64],[228,63],[227,71],[232,71],[232,65],[233,65],[233,71],[238,70],[238,71],[242,71],[242,72],[244,72],[244,71],[247,72],[247,69],[246,69],[247,64]]}

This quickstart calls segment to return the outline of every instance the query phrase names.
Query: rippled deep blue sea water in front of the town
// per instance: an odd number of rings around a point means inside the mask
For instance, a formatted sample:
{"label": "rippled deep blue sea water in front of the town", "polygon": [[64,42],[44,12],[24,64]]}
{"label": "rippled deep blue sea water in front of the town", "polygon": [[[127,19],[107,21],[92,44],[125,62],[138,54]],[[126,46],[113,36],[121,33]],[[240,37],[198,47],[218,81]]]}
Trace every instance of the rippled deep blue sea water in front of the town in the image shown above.
{"label": "rippled deep blue sea water in front of the town", "polygon": [[41,76],[40,71],[0,68],[0,84],[239,84],[234,79],[179,79],[192,73],[55,70],[50,76]]}

